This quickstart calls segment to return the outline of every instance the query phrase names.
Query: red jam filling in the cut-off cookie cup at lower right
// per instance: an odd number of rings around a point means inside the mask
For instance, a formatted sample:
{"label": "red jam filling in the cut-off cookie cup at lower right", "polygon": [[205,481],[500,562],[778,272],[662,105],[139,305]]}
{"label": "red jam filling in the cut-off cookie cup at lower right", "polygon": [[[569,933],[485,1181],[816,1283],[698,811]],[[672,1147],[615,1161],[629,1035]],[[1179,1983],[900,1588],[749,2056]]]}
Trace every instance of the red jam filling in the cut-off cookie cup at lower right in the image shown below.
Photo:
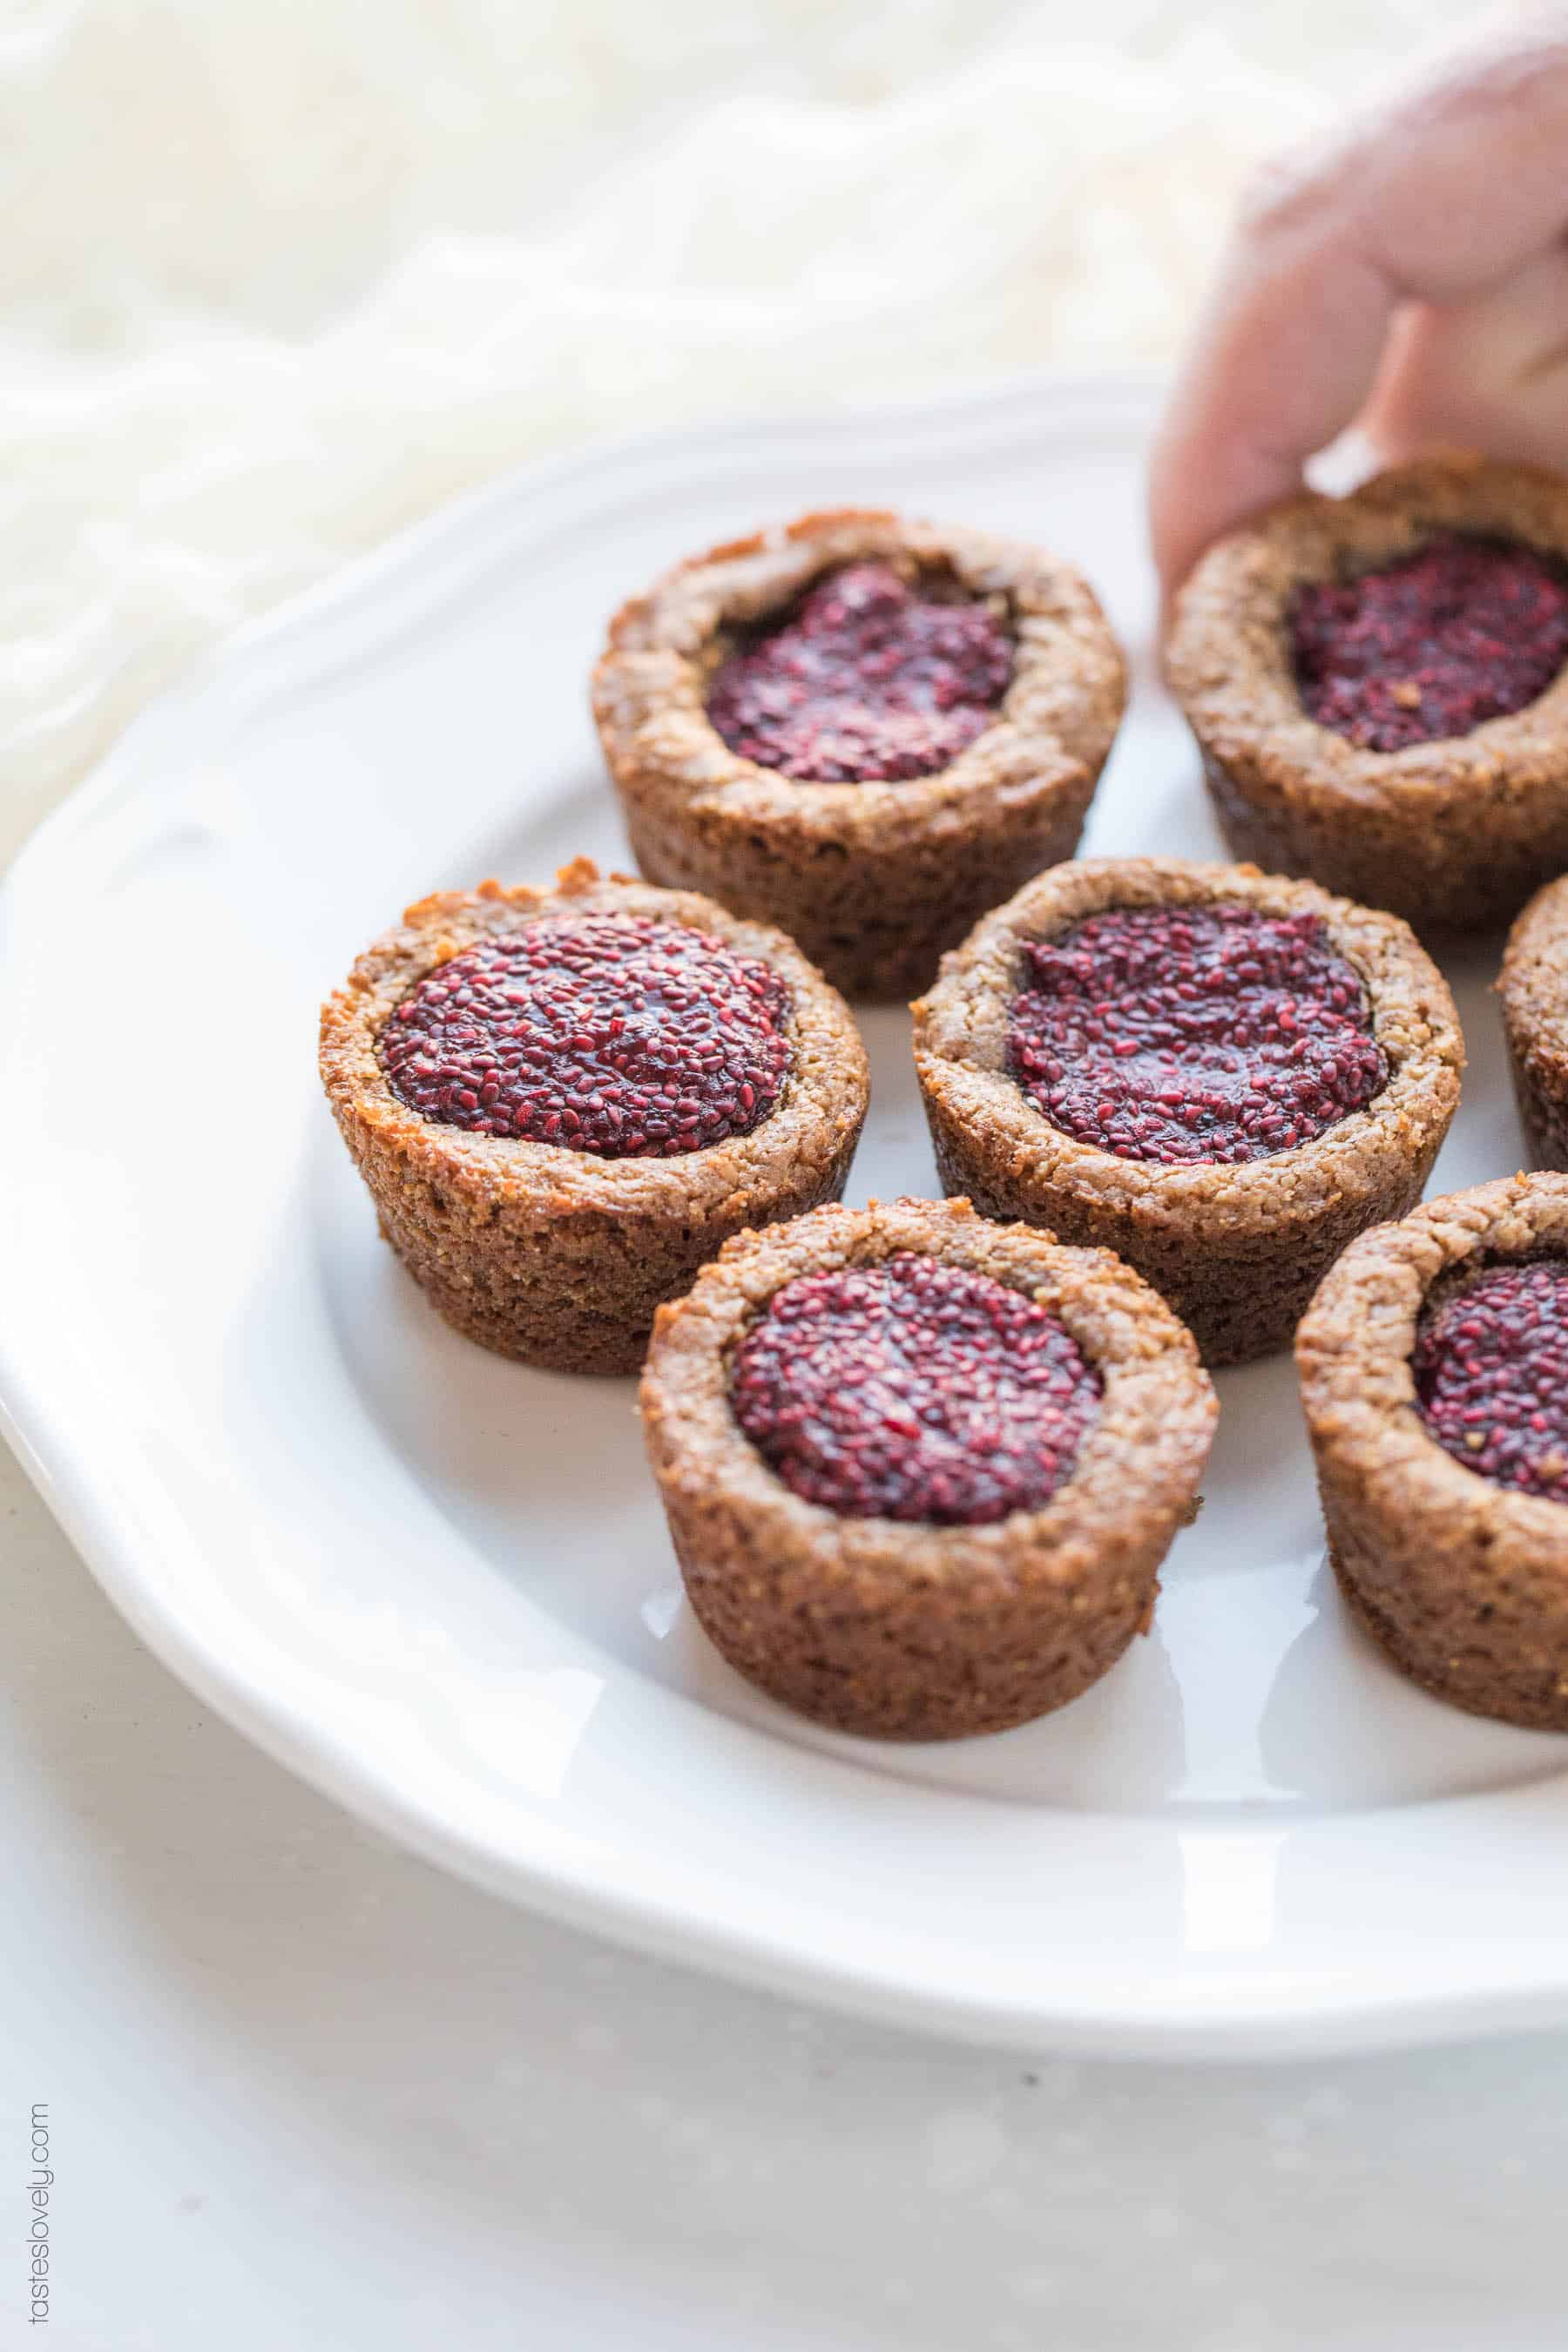
{"label": "red jam filling in the cut-off cookie cup at lower right", "polygon": [[1415,1397],[1443,1451],[1497,1486],[1568,1503],[1568,1265],[1495,1265],[1415,1334]]}

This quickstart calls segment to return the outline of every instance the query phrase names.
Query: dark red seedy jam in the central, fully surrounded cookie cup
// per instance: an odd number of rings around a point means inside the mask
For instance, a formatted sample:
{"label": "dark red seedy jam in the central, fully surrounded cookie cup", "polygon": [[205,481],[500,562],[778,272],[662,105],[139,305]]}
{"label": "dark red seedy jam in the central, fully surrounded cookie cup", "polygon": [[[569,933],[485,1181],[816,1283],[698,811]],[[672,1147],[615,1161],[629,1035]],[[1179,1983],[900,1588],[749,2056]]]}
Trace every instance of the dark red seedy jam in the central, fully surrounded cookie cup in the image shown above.
{"label": "dark red seedy jam in the central, fully surrounded cookie cup", "polygon": [[1121,1160],[1267,1160],[1387,1084],[1319,915],[1126,906],[1023,955],[1013,1077],[1051,1127]]}

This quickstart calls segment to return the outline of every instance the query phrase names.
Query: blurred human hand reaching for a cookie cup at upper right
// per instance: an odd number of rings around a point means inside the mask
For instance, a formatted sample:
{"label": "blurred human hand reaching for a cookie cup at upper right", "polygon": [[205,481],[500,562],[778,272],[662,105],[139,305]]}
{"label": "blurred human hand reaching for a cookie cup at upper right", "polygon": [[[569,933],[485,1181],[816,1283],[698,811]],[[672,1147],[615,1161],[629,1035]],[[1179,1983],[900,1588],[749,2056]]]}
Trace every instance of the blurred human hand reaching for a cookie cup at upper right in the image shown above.
{"label": "blurred human hand reaching for a cookie cup at upper right", "polygon": [[1265,169],[1154,449],[1166,595],[1352,423],[1568,466],[1568,7]]}

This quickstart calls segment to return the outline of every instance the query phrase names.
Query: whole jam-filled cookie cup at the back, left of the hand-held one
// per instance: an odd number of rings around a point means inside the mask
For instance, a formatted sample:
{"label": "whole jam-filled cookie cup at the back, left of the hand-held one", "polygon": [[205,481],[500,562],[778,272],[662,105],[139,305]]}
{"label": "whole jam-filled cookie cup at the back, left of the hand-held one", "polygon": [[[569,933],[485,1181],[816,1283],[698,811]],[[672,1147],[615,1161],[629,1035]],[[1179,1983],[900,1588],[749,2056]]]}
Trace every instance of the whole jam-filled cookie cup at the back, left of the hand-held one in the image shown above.
{"label": "whole jam-filled cookie cup at the back, left of the hand-held one", "polygon": [[[799,680],[823,682],[802,616],[823,586],[832,604],[835,579],[867,572],[905,602],[867,640],[875,691],[853,696],[860,623],[839,616],[837,710],[802,713]],[[943,640],[940,614],[912,621],[933,600],[969,609],[961,642]],[[804,515],[677,564],[616,614],[592,677],[644,875],[780,924],[867,1000],[924,988],[987,906],[1072,856],[1124,703],[1121,649],[1072,564],[870,510]],[[875,750],[893,779],[867,771]]]}

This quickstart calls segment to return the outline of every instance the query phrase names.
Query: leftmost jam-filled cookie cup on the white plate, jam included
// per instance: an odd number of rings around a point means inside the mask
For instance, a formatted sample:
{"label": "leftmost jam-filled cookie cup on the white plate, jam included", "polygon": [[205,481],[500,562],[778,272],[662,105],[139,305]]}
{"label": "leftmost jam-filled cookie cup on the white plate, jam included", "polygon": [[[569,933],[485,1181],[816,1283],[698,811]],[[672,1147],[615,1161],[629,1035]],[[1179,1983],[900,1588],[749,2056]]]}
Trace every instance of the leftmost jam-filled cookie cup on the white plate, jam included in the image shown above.
{"label": "leftmost jam-filled cookie cup on the white plate, jam included", "polygon": [[[550,990],[571,962],[562,943],[604,924],[642,941],[642,962],[618,964],[635,1035],[609,1035],[616,1014],[599,1000],[583,1000],[583,1025],[557,1021]],[[529,960],[531,941],[545,953]],[[729,1025],[698,1018],[691,957],[708,985],[722,976],[738,990]],[[630,971],[644,983],[635,1004]],[[468,1004],[447,993],[454,974],[468,981]],[[515,1068],[505,1042],[487,1049],[482,1023],[463,1021],[465,1009],[489,1016],[505,1002],[508,974],[524,1033]],[[430,1009],[433,993],[440,1021],[404,1056],[400,1094],[388,1075],[400,1007]],[[541,1049],[550,1023],[552,1063]],[[411,906],[322,1007],[320,1065],[381,1232],[430,1303],[480,1345],[555,1371],[635,1371],[654,1308],[729,1235],[837,1200],[867,1103],[846,1004],[780,931],[689,891],[599,877],[588,858],[552,889],[484,882]],[[773,1094],[752,1124],[748,1084]],[[595,1148],[574,1148],[567,1110],[592,1122]],[[607,1110],[621,1110],[618,1129]],[[731,1117],[741,1124],[717,1136]],[[642,1129],[628,1136],[632,1120]]]}

